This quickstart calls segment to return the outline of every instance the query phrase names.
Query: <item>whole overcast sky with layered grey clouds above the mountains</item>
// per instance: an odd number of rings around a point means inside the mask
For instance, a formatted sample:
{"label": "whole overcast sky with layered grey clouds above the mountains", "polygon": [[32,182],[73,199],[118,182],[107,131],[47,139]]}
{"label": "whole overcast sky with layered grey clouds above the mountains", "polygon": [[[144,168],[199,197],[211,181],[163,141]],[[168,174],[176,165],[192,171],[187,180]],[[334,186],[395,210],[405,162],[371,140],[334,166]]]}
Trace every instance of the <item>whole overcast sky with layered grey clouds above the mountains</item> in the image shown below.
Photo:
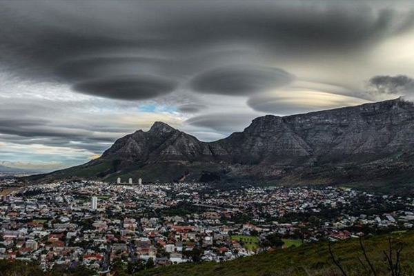
{"label": "whole overcast sky with layered grey clouds above the mountains", "polygon": [[154,121],[213,141],[414,88],[413,1],[0,0],[0,26],[7,166],[82,164]]}

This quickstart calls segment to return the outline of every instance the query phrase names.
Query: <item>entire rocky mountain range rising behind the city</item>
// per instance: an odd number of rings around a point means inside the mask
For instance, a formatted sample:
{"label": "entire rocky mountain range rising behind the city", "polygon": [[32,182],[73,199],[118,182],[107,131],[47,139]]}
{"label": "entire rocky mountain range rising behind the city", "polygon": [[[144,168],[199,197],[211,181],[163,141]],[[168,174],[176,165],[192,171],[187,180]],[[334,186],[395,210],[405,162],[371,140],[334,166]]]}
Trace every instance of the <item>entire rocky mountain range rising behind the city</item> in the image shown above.
{"label": "entire rocky mountain range rising behind the city", "polygon": [[32,180],[411,186],[413,130],[414,104],[403,99],[258,117],[244,131],[213,142],[155,122],[118,139],[98,159]]}

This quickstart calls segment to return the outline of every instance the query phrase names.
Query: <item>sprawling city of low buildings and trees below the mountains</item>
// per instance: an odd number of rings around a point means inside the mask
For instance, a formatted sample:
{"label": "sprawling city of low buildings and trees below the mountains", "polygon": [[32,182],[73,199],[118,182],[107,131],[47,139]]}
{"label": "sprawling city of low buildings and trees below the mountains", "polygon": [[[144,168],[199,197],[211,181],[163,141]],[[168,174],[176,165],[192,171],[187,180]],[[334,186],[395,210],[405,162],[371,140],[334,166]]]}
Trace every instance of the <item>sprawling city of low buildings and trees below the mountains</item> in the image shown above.
{"label": "sprawling city of low buildings and trees below the mountains", "polygon": [[[129,179],[128,179],[129,180]],[[110,273],[406,230],[414,199],[350,188],[59,181],[1,197],[0,259]],[[10,190],[12,181],[0,186]],[[277,238],[275,238],[277,237]],[[141,266],[132,266],[141,264]]]}

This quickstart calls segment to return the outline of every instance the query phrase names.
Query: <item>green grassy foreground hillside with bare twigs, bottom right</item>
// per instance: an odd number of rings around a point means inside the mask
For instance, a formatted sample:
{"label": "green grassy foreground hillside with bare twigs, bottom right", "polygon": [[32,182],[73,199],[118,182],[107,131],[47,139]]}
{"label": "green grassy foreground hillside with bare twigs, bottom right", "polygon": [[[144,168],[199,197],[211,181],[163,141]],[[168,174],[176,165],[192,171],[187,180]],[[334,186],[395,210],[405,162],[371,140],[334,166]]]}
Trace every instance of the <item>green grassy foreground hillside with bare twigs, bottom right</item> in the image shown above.
{"label": "green grassy foreground hillside with bare twigs, bottom right", "polygon": [[[391,275],[383,250],[388,252],[388,235],[371,236],[362,239],[366,253],[375,267],[377,275]],[[414,275],[414,233],[391,235],[395,249],[404,246],[401,253],[402,275]],[[347,275],[372,275],[364,270],[357,257],[366,268],[358,239],[348,239],[332,245],[333,253],[342,264]],[[395,251],[393,252],[395,258]],[[395,259],[394,259],[395,263]],[[298,248],[261,253],[224,263],[179,264],[152,270],[143,270],[137,276],[270,276],[270,275],[342,275],[333,264],[328,244],[318,242],[304,244]]]}

